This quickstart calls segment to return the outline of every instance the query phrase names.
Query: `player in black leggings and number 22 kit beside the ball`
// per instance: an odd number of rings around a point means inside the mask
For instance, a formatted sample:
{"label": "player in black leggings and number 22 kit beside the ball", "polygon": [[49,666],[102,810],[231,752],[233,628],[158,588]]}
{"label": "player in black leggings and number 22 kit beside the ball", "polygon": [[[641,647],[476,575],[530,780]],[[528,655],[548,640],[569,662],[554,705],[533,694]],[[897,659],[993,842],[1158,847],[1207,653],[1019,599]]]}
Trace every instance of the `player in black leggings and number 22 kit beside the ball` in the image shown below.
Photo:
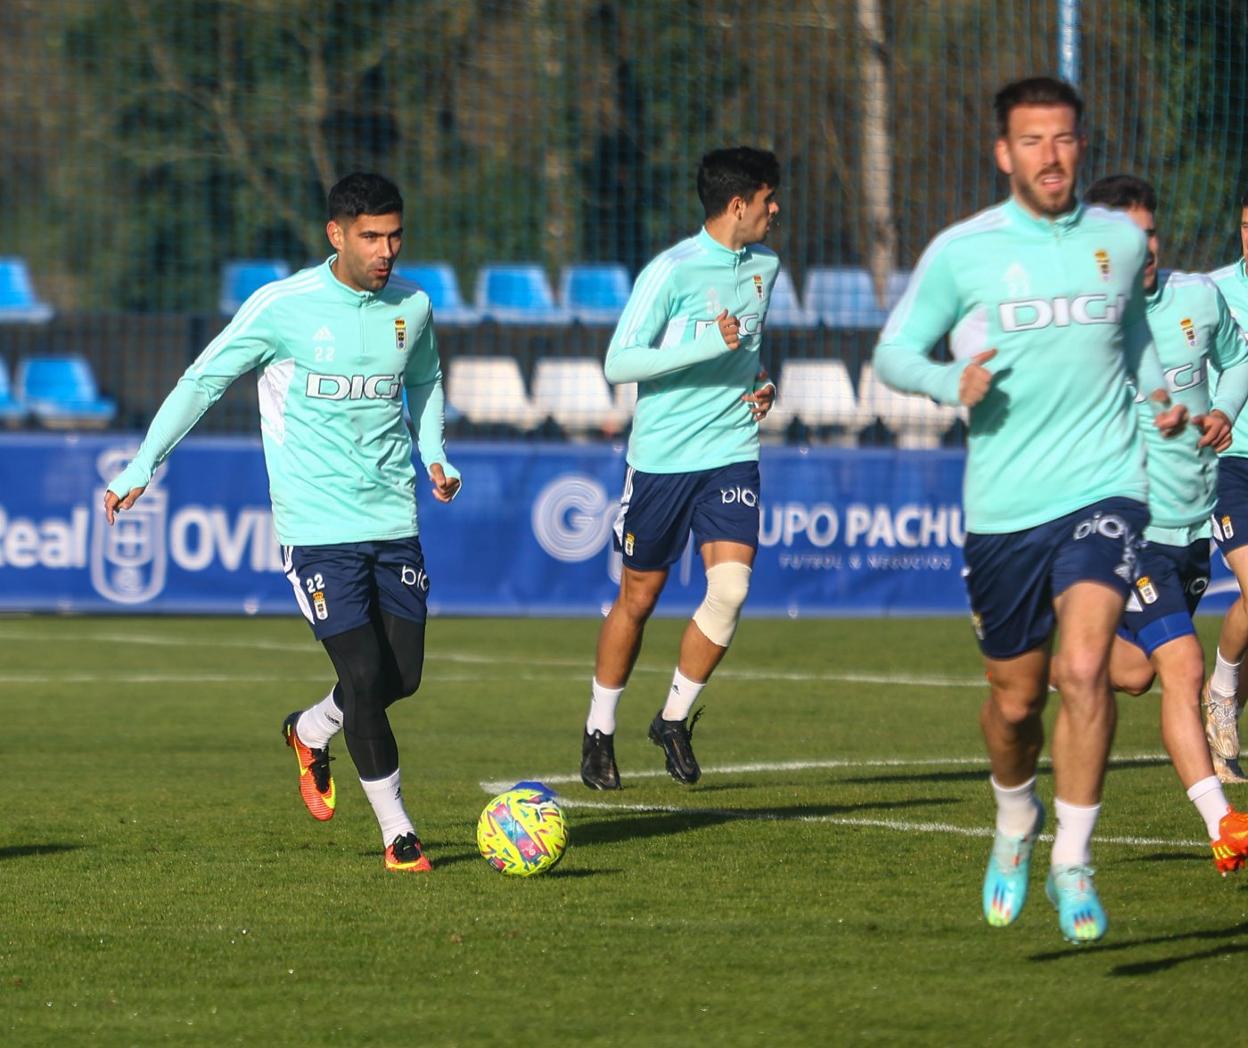
{"label": "player in black leggings and number 22 kit beside the ball", "polygon": [[443,449],[429,298],[391,278],[403,198],[379,175],[348,175],[329,191],[326,233],[334,253],[323,264],[252,294],[187,368],[104,509],[109,524],[130,509],[230,383],[257,372],[275,529],[300,610],[338,675],[329,695],[282,726],[300,792],[316,818],[333,815],[328,746],[342,729],[384,867],[426,871],[386,715],[421,684],[429,589],[404,391],[433,497],[449,502],[459,474]]}

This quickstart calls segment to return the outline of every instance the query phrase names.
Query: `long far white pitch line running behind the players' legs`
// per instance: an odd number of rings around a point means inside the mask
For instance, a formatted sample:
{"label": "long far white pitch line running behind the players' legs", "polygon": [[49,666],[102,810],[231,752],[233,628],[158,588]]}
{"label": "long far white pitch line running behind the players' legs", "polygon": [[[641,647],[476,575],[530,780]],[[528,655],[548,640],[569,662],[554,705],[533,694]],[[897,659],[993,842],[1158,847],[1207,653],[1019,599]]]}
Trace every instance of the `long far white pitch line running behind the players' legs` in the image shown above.
{"label": "long far white pitch line running behind the players' legs", "polygon": [[[150,634],[131,634],[131,633],[41,633],[39,630],[25,630],[25,629],[5,629],[0,625],[0,644],[30,644],[30,643],[65,643],[70,641],[74,644],[105,644],[117,648],[124,648],[126,645],[142,645],[150,648],[191,648],[191,649],[208,649],[218,651],[222,649],[238,649],[250,651],[288,651],[291,654],[312,655],[319,650],[316,641],[308,639],[307,641],[273,641],[273,640],[241,640],[241,639],[221,639],[221,640],[200,640],[196,638],[171,638],[171,636],[154,636]],[[459,665],[478,665],[478,666],[529,666],[532,669],[550,669],[550,670],[569,670],[577,677],[585,676],[593,670],[593,653],[587,651],[584,659],[545,659],[532,655],[480,655],[468,651],[447,651],[438,650],[436,648],[426,651],[426,660],[429,662],[452,662]],[[639,674],[661,674],[669,675],[671,672],[670,665],[645,665],[638,664],[635,672]],[[10,681],[12,675],[0,675],[0,684]],[[81,675],[75,675],[81,676]],[[512,674],[508,671],[508,676]],[[763,680],[763,681],[786,681],[786,682],[839,682],[839,684],[881,684],[881,685],[894,685],[901,687],[983,687],[983,677],[951,677],[951,676],[916,676],[911,674],[870,674],[870,672],[797,672],[791,670],[750,670],[750,669],[734,669],[731,666],[725,666],[716,671],[716,677],[720,680]],[[130,677],[125,677],[131,680]],[[195,674],[187,675],[186,677],[178,680],[206,680],[207,677]],[[231,677],[232,680],[233,677]],[[257,677],[251,677],[256,680]],[[534,679],[549,679],[547,677],[534,677]],[[59,681],[66,680],[69,677],[61,677],[56,675],[49,675],[46,681]],[[212,680],[217,680],[212,677]],[[222,680],[225,680],[222,677]],[[34,682],[32,679],[22,677],[21,681],[12,682]],[[168,682],[176,682],[171,679]]]}

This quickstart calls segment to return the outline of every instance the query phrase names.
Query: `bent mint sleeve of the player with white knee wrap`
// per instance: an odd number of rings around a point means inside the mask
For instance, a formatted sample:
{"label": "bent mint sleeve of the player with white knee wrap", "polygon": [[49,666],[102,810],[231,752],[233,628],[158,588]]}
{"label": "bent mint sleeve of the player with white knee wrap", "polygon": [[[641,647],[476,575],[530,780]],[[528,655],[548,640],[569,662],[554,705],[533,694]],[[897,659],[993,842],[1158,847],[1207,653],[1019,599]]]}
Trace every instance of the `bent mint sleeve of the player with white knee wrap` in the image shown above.
{"label": "bent mint sleeve of the player with white knee wrap", "polygon": [[666,272],[666,267],[651,262],[638,276],[607,348],[603,371],[608,382],[644,382],[733,352],[719,324],[709,324],[690,342],[664,344],[675,308]]}

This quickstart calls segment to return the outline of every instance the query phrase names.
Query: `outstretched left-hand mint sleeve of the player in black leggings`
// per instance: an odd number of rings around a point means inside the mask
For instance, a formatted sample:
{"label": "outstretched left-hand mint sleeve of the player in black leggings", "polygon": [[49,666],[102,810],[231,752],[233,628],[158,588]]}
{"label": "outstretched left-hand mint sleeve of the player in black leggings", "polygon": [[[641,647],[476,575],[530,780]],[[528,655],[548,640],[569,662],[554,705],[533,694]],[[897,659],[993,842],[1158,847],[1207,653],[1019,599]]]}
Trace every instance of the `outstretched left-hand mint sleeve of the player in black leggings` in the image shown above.
{"label": "outstretched left-hand mint sleeve of the player in black leggings", "polygon": [[165,398],[131,463],[109,484],[125,498],[134,488],[146,488],[152,474],[203,413],[221,399],[238,376],[268,363],[275,342],[267,316],[243,303],[235,318],[207,344]]}

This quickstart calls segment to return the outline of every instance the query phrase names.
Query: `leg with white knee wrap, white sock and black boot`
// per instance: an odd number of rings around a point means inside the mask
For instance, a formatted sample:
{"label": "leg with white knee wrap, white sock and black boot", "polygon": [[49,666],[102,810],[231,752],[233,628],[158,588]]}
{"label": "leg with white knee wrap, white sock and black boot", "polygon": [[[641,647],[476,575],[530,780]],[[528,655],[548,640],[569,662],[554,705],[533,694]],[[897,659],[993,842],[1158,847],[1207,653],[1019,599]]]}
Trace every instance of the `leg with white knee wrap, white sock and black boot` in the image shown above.
{"label": "leg with white knee wrap, white sock and black boot", "polygon": [[685,626],[666,701],[650,721],[650,741],[663,747],[668,774],[678,782],[689,785],[701,777],[693,750],[694,724],[701,711],[691,721],[689,712],[736,631],[750,590],[754,553],[754,546],[745,543],[719,540],[701,545],[706,599]]}

